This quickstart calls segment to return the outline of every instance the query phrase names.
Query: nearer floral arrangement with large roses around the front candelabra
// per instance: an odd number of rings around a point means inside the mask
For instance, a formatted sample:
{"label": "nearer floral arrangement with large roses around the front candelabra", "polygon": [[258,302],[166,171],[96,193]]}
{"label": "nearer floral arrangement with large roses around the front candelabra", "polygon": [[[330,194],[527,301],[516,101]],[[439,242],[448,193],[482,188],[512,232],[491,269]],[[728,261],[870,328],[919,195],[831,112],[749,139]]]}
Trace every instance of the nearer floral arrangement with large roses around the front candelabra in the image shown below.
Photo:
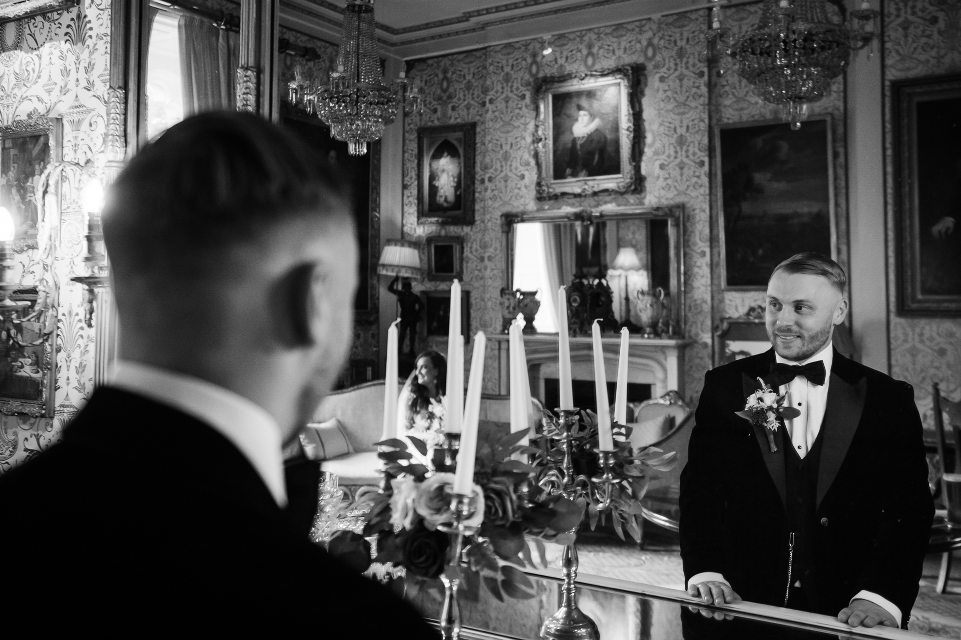
{"label": "nearer floral arrangement with large roses around the front candelabra", "polygon": [[[463,557],[471,572],[499,600],[504,595],[527,599],[534,596],[533,584],[517,567],[537,566],[527,539],[531,539],[547,564],[547,541],[567,542],[578,526],[583,509],[575,502],[533,486],[535,468],[516,460],[517,454],[536,456],[538,449],[519,444],[525,434],[492,434],[478,442],[474,473],[474,514],[463,522],[476,527],[465,537]],[[422,455],[427,445],[408,437]],[[443,467],[430,469],[411,462],[407,442],[388,439],[379,442],[379,454],[392,477],[390,490],[361,492],[355,506],[369,505],[364,536],[377,535],[375,562],[393,562],[408,575],[433,579],[445,570],[450,535],[438,529],[454,522],[451,510],[454,474]]]}

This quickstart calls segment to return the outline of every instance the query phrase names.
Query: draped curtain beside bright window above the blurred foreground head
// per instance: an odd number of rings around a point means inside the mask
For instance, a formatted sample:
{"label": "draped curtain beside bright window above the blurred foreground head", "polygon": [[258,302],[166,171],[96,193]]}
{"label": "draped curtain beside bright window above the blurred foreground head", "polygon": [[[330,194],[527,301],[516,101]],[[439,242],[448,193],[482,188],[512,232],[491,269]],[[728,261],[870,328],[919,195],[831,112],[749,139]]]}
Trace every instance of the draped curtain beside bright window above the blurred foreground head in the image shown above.
{"label": "draped curtain beside bright window above the blurred foreground head", "polygon": [[179,26],[185,116],[233,111],[239,36],[193,15],[182,15]]}

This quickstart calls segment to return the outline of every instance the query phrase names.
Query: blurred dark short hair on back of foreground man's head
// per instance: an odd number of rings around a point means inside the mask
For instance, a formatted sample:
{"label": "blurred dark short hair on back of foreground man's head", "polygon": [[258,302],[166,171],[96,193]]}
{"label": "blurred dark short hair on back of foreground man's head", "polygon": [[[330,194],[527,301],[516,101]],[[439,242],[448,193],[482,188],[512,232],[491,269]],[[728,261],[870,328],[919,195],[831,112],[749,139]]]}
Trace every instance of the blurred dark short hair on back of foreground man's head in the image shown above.
{"label": "blurred dark short hair on back of foreground man's head", "polygon": [[218,273],[227,251],[273,225],[301,217],[350,225],[344,182],[326,158],[262,118],[192,116],[111,185],[103,225],[113,271],[183,283]]}

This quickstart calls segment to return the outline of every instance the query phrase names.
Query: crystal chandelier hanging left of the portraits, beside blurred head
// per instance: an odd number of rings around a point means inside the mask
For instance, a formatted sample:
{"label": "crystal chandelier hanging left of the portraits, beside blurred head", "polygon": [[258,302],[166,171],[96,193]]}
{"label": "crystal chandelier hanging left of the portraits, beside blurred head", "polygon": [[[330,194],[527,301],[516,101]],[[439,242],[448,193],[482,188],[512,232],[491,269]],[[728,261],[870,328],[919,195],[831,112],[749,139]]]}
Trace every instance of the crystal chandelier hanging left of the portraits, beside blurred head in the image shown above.
{"label": "crystal chandelier hanging left of the portraits, beside blurred head", "polygon": [[408,107],[419,102],[404,72],[392,86],[383,83],[374,0],[347,1],[331,82],[327,86],[305,83],[298,68],[287,88],[289,101],[319,116],[335,139],[347,143],[351,155],[367,153],[367,143],[381,138],[383,128],[397,117],[398,107],[409,112]]}

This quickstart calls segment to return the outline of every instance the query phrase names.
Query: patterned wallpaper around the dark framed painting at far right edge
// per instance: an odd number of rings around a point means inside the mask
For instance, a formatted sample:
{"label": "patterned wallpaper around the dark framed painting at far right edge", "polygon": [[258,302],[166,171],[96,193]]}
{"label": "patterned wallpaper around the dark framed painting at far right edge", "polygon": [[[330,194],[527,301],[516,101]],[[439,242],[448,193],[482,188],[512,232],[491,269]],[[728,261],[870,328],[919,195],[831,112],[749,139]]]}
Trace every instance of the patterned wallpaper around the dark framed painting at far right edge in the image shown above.
{"label": "patterned wallpaper around the dark framed painting at far right edge", "polygon": [[932,383],[940,383],[949,399],[961,399],[961,319],[899,318],[897,314],[891,82],[961,73],[961,5],[957,0],[887,0],[884,37],[891,375],[914,385],[918,408],[930,428]]}

